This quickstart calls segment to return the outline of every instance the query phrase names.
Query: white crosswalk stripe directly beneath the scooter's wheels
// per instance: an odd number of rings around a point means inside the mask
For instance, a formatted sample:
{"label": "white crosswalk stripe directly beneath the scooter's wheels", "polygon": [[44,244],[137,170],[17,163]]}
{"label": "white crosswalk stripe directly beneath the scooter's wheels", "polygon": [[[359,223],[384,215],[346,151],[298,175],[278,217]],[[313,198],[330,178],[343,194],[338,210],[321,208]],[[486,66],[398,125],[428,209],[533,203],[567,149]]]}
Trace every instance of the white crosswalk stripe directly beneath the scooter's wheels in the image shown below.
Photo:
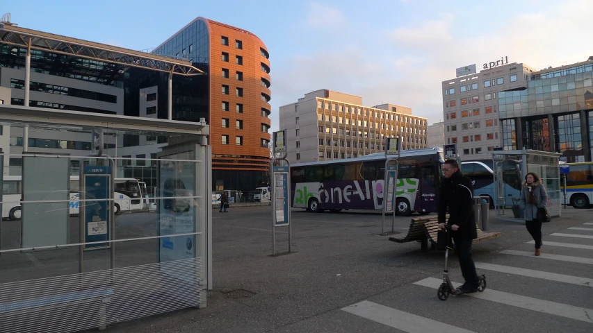
{"label": "white crosswalk stripe directly beneath the scooter's wheels", "polygon": [[[442,282],[443,280],[441,279],[426,278],[419,282],[414,282],[414,284],[430,287],[432,289],[439,289],[439,286]],[[453,285],[457,287],[460,285],[460,283],[453,282]],[[513,293],[505,293],[503,291],[496,291],[492,289],[486,289],[482,293],[469,293],[466,294],[466,296],[498,302],[505,305],[512,305],[514,307],[521,307],[523,309],[539,311],[545,314],[553,314],[555,316],[576,319],[578,321],[585,321],[587,323],[593,324],[593,309],[574,307],[573,305],[551,302],[549,300],[539,300],[537,298],[515,295]]]}

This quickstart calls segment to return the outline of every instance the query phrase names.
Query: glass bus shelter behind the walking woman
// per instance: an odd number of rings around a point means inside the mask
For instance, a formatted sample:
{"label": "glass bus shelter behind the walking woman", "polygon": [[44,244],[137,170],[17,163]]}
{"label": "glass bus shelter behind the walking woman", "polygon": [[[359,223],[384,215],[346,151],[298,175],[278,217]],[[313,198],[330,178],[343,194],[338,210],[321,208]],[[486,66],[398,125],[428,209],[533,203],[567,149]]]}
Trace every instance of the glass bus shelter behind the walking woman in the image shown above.
{"label": "glass bus shelter behind the walking woman", "polygon": [[562,195],[559,161],[560,154],[547,151],[496,151],[492,155],[496,218],[523,221],[523,210],[520,207],[521,186],[529,172],[537,174],[546,189],[546,208],[550,216],[560,216]]}

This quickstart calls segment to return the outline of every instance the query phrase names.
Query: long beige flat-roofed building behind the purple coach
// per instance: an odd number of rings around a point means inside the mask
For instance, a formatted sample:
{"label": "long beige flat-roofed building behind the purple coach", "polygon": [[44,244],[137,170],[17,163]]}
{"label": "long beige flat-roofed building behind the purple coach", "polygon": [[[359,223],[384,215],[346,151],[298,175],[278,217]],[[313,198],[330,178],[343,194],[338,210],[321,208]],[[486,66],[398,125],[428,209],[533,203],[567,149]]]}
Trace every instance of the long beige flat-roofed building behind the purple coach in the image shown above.
{"label": "long beige flat-roofed building behind the purple coach", "polygon": [[353,158],[384,151],[385,137],[402,149],[426,148],[427,119],[398,105],[362,105],[362,97],[320,89],[279,110],[292,163]]}

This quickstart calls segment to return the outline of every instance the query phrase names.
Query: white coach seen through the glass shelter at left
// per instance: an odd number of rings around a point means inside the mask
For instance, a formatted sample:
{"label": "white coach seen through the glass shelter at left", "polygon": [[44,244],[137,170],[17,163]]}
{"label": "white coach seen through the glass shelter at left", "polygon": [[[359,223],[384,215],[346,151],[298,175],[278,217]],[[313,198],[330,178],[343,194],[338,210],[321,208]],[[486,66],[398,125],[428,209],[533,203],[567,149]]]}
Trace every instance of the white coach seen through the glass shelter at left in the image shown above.
{"label": "white coach seen through the glass shelter at left", "polygon": [[[115,214],[143,209],[143,191],[134,178],[115,178]],[[22,178],[4,176],[2,219],[21,219]],[[70,214],[79,214],[79,176],[70,176]]]}

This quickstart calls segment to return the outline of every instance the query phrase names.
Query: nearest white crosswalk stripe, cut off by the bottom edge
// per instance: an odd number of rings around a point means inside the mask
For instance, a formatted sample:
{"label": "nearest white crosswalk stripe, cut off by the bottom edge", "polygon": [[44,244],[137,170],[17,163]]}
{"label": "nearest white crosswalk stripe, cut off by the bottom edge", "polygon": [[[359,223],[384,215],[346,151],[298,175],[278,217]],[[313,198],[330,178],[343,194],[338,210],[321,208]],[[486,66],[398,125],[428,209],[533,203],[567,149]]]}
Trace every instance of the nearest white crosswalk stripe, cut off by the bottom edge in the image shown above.
{"label": "nearest white crosswalk stripe, cut off by the bottom edge", "polygon": [[367,300],[356,303],[355,305],[350,305],[342,310],[408,333],[473,333],[472,331],[464,330],[460,327],[433,321],[429,318],[409,314],[391,307],[368,302]]}

